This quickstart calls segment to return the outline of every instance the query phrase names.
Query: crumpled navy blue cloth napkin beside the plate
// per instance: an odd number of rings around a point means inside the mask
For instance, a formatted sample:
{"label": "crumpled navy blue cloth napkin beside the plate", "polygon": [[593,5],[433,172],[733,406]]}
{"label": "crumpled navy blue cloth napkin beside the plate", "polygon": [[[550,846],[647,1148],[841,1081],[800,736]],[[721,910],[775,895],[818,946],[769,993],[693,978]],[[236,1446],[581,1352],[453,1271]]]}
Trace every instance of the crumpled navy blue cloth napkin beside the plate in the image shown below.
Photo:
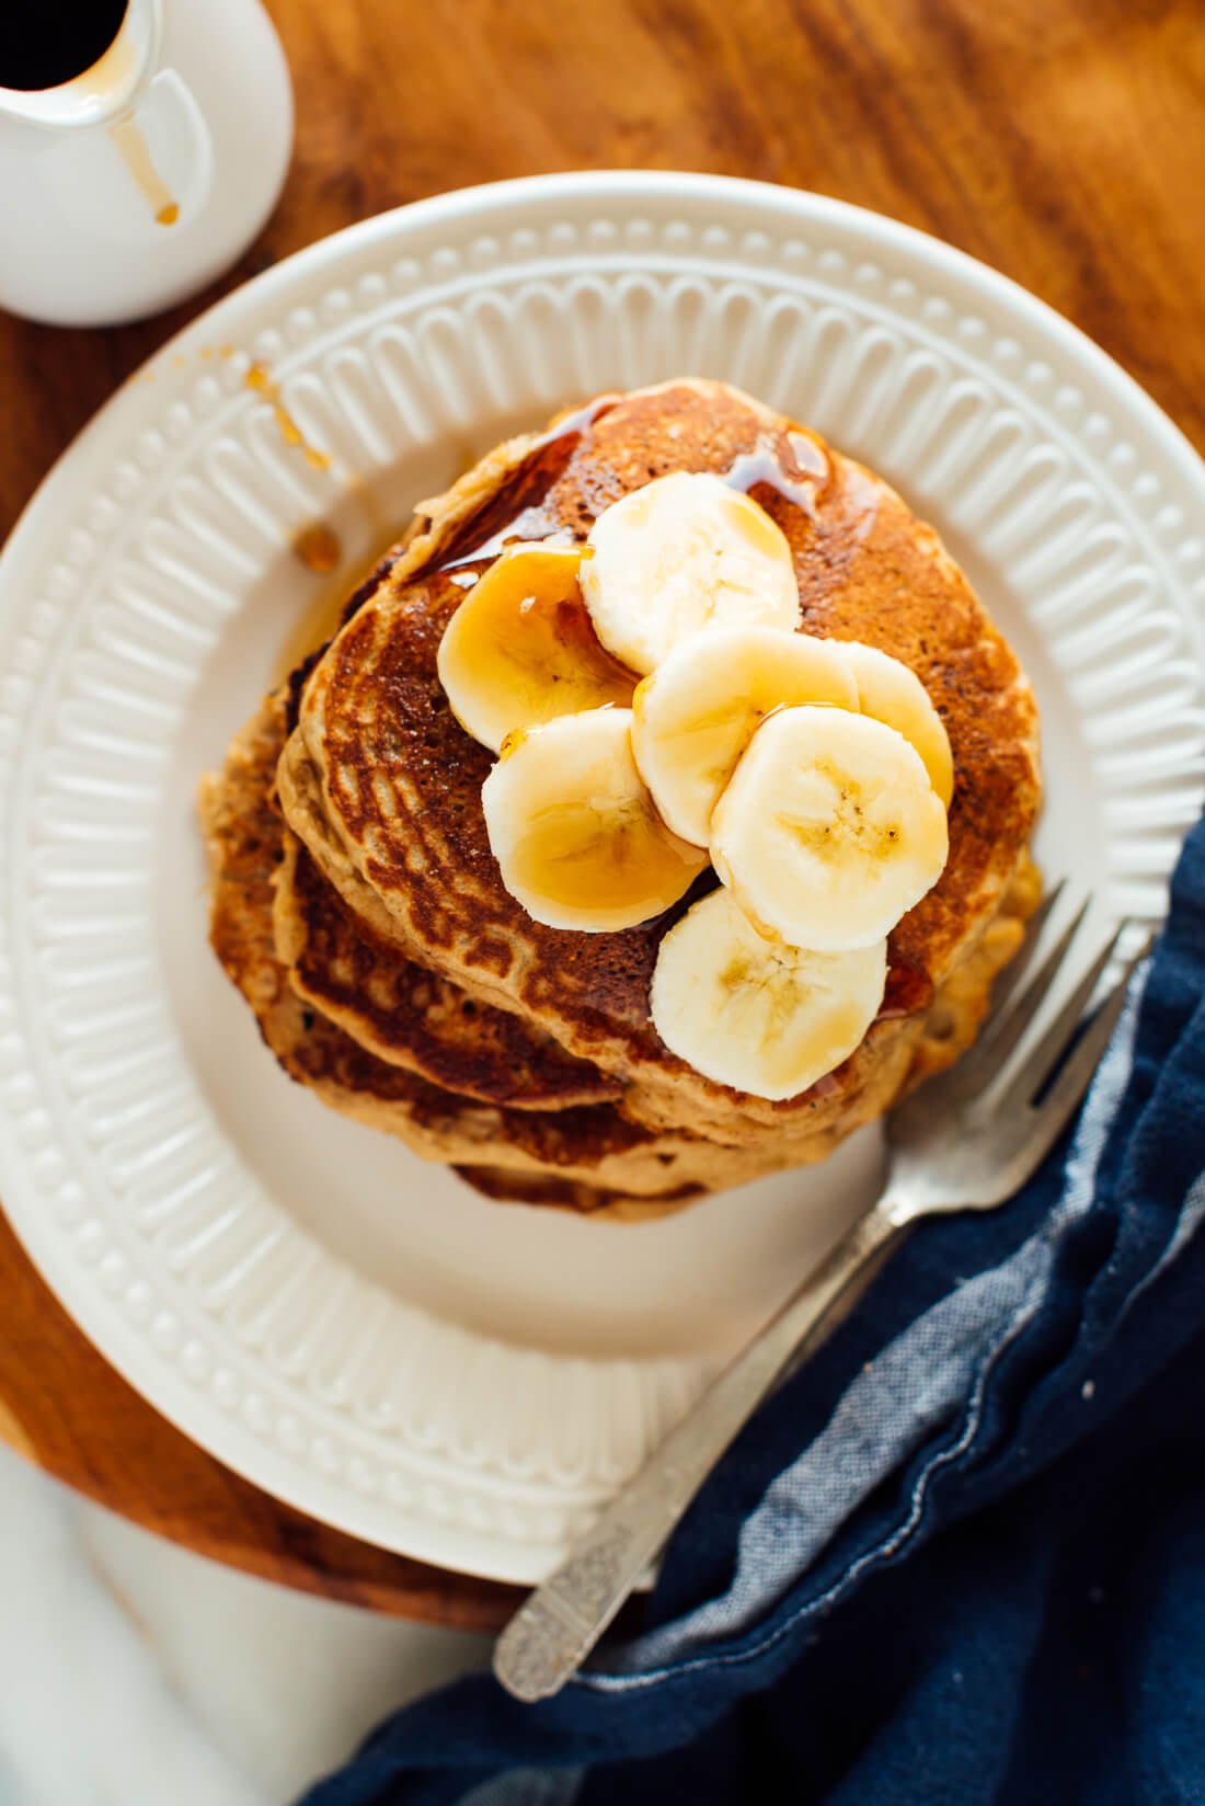
{"label": "crumpled navy blue cloth napkin beside the plate", "polygon": [[918,1228],[556,1699],[486,1676],[305,1806],[1205,1802],[1205,822],[1079,1123]]}

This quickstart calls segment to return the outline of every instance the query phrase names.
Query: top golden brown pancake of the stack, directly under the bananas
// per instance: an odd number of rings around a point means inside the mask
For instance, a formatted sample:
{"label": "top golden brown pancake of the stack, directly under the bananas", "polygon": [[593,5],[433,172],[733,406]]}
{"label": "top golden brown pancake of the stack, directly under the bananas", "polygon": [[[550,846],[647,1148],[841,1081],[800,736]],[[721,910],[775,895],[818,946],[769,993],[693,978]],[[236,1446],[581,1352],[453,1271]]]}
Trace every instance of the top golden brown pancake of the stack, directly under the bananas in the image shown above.
{"label": "top golden brown pancake of the stack, directly under the bananas", "polygon": [[[911,665],[954,751],[950,858],[891,936],[883,1013],[836,1073],[784,1103],[703,1078],[649,1019],[661,936],[690,898],[652,923],[591,936],[540,926],[506,892],[481,811],[491,753],[455,722],[435,674],[464,580],[502,540],[582,540],[602,507],[676,470],[750,489],[793,549],[804,630],[865,639]],[[952,973],[963,991],[976,973],[981,990],[963,1015],[981,1011],[986,973],[1019,928],[990,948],[983,937],[1014,880],[1010,908],[1032,892],[1023,856],[1039,804],[1037,712],[963,573],[882,479],[719,383],[602,397],[546,435],[500,446],[425,515],[304,686],[278,768],[289,825],[358,923],[620,1078],[631,1122],[750,1152],[789,1145],[795,1159],[827,1152],[898,1094]],[[939,1062],[929,1037],[925,1064]]]}

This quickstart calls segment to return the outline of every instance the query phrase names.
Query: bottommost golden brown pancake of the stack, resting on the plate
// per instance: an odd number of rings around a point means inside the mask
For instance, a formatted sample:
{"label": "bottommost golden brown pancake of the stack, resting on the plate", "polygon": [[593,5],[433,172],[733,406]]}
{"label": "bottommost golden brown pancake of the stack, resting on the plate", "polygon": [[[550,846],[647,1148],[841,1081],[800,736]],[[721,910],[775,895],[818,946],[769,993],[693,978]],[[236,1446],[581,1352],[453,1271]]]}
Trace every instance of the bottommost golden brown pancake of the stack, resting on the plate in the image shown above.
{"label": "bottommost golden brown pancake of the stack, resting on the plate", "polygon": [[[282,701],[269,695],[231,744],[220,777],[202,786],[202,820],[213,865],[211,939],[282,1067],[327,1105],[399,1136],[423,1158],[462,1161],[455,1170],[490,1197],[603,1214],[614,1221],[677,1210],[705,1190],[820,1159],[853,1125],[829,1123],[804,1143],[770,1136],[761,1150],[672,1136],[658,1141],[600,1109],[564,1109],[553,1116],[549,1129],[547,1118],[537,1112],[522,1118],[522,1112],[504,1109],[473,1111],[468,1107],[472,1100],[378,1060],[318,1010],[305,1006],[276,952],[273,889],[278,889],[280,840],[287,838],[287,831],[271,804],[271,780],[282,735]],[[990,979],[1014,952],[1035,899],[1037,878],[1023,861],[1006,907],[970,959],[947,981],[929,1013],[921,1038],[911,1049],[909,1078],[947,1066],[974,1038]],[[316,901],[341,923],[340,934],[354,932],[331,889]],[[350,1019],[356,1015],[352,1010]],[[894,1055],[905,1051],[900,1047]],[[862,1112],[873,1114],[898,1084],[894,1062],[880,1067],[878,1087],[860,1100]],[[504,1163],[491,1165],[495,1158]],[[649,1179],[650,1159],[654,1181]],[[605,1187],[591,1183],[602,1178],[609,1181]],[[638,1183],[649,1185],[645,1196],[625,1188]],[[652,1190],[652,1183],[663,1188]]]}

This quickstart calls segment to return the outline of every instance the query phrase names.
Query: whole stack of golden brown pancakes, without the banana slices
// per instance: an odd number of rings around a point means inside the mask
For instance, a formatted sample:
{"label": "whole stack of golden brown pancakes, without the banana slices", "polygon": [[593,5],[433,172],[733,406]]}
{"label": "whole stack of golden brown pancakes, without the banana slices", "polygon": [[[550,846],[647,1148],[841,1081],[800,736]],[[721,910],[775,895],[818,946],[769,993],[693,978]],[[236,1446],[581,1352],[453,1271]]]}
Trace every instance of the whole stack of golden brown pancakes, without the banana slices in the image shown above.
{"label": "whole stack of golden brown pancakes, without the banana slices", "polygon": [[[493,755],[435,672],[443,630],[509,540],[584,540],[670,471],[748,489],[795,554],[802,630],[911,665],[950,735],[939,883],[889,941],[883,1006],[786,1102],[714,1084],[659,1040],[661,936],[715,880],[620,934],[535,923],[490,851]],[[211,939],[285,1071],[499,1197],[621,1214],[827,1154],[974,1038],[1037,901],[1037,713],[1008,645],[882,479],[719,383],[605,396],[509,441],[349,601],[202,786]]]}

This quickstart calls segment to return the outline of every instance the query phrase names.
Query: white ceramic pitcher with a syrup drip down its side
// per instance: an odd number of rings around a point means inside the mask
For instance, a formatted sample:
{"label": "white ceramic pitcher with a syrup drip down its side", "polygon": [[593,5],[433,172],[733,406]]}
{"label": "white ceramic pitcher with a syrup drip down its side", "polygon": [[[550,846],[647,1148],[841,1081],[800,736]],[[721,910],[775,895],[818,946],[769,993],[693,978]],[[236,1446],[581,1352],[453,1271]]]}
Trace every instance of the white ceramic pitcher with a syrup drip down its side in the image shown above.
{"label": "white ceramic pitcher with a syrup drip down its side", "polygon": [[184,300],[257,235],[291,146],[260,0],[128,0],[90,69],[0,87],[0,307],[110,325]]}

